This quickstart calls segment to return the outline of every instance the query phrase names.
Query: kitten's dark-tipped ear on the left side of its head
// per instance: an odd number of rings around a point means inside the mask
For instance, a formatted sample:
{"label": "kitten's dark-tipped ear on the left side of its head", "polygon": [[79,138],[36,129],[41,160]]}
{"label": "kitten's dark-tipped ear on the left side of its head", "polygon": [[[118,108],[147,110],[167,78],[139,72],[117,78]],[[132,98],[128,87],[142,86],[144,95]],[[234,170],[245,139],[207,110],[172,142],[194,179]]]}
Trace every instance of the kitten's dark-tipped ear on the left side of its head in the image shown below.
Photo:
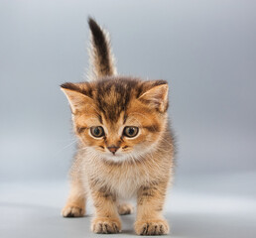
{"label": "kitten's dark-tipped ear on the left side of its head", "polygon": [[73,114],[84,110],[88,105],[93,103],[93,100],[90,97],[75,90],[75,85],[73,83],[64,83],[61,85],[61,89],[69,102]]}

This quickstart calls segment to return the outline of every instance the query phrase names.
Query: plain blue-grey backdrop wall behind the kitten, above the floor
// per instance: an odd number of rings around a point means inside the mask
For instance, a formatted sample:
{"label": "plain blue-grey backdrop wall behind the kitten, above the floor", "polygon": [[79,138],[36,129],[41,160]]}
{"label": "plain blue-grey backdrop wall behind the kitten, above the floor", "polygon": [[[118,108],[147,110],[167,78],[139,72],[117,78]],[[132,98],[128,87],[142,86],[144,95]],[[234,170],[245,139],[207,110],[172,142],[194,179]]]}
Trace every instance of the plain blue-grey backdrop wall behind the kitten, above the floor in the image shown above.
{"label": "plain blue-grey backdrop wall behind the kitten, above the floor", "polygon": [[118,71],[170,82],[178,173],[255,171],[254,1],[0,1],[0,179],[62,179],[73,146],[59,85],[87,67],[87,17]]}

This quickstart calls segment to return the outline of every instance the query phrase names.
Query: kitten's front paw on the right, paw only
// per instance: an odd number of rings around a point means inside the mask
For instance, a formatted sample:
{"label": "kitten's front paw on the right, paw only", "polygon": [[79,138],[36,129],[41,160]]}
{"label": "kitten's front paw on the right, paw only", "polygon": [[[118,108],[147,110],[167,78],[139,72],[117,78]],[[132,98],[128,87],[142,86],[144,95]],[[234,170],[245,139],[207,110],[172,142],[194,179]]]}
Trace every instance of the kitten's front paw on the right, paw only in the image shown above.
{"label": "kitten's front paw on the right, paw only", "polygon": [[169,233],[169,225],[166,220],[139,220],[134,224],[137,235],[166,235]]}

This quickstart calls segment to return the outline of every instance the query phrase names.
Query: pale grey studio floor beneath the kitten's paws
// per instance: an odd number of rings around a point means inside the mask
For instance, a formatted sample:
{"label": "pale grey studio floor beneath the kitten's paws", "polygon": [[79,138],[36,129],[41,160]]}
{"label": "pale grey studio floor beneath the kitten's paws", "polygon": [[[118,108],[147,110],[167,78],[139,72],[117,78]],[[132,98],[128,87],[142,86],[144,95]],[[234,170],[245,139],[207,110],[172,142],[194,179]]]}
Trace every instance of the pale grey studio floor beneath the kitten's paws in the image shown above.
{"label": "pale grey studio floor beneath the kitten's paws", "polygon": [[[177,179],[165,215],[171,234],[165,237],[255,238],[256,176],[233,174]],[[89,230],[91,205],[82,218],[63,218],[67,182],[1,182],[0,237],[108,237]],[[134,214],[122,216],[122,233],[135,237]]]}

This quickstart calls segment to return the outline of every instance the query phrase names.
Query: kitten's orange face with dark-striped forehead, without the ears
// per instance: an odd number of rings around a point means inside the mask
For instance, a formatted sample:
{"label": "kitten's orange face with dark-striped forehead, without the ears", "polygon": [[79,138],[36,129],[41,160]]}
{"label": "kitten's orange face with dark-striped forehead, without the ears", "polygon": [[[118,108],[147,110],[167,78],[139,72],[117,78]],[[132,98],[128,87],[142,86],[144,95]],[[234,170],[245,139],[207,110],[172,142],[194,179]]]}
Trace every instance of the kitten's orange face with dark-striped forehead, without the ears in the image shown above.
{"label": "kitten's orange face with dark-striped forehead, without the ears", "polygon": [[[75,132],[93,155],[112,162],[138,160],[157,144],[166,127],[167,105],[161,112],[156,108],[161,103],[148,101],[155,92],[140,98],[136,89],[125,83],[97,85],[91,97],[76,103],[80,108],[73,113]],[[163,95],[157,96],[163,102]]]}

